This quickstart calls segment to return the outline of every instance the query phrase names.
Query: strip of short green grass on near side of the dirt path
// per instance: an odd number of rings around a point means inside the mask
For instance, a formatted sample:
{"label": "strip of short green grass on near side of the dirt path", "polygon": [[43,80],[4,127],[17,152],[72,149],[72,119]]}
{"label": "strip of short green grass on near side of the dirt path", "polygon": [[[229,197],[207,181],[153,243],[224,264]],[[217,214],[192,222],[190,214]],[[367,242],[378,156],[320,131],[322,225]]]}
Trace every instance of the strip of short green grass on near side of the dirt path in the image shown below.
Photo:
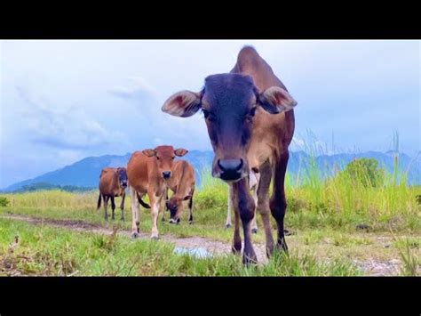
{"label": "strip of short green grass on near side of the dirt path", "polygon": [[131,240],[0,219],[0,275],[65,276],[349,276],[361,271],[346,260],[321,261],[311,253],[274,255],[243,267],[241,258],[175,255],[159,240]]}

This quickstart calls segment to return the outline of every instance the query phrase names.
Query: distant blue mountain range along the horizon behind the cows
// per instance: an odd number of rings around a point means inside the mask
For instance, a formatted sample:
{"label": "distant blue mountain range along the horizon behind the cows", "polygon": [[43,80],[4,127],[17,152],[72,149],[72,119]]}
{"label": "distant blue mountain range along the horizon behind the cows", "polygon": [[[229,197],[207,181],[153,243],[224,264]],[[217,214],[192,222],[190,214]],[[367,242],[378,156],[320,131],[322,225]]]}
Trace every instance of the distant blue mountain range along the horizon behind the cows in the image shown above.
{"label": "distant blue mountain range along the horizon behind the cows", "polygon": [[[333,170],[342,169],[346,164],[351,162],[353,158],[376,158],[380,166],[383,166],[388,172],[393,171],[393,151],[378,152],[367,151],[358,154],[342,153],[337,155],[321,155],[314,159],[316,166],[321,172],[321,176],[332,174]],[[60,186],[76,186],[91,188],[98,186],[99,174],[102,168],[106,166],[126,166],[130,153],[123,156],[106,155],[100,157],[83,158],[70,166],[65,166],[58,170],[42,174],[34,179],[28,179],[22,182],[14,183],[2,191],[21,190],[24,186],[34,185],[36,183],[50,183],[52,185]],[[196,182],[200,185],[201,171],[203,168],[211,169],[211,162],[213,159],[212,151],[198,151],[192,150],[184,157],[195,167]],[[290,161],[288,164],[288,171],[292,174],[305,172],[310,165],[310,156],[304,151],[296,151],[290,153]],[[410,158],[404,153],[399,154],[399,170],[409,170],[409,184],[421,184],[421,158]]]}

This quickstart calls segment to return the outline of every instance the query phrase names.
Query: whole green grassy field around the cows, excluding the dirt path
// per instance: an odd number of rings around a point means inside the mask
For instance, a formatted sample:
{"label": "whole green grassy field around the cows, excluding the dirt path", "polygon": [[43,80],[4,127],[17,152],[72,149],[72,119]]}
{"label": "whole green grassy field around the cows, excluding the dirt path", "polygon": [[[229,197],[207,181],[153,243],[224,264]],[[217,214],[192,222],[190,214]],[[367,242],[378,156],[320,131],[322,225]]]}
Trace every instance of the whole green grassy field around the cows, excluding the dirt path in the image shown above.
{"label": "whole green grassy field around the cows, excluding the dirt path", "polygon": [[[322,181],[316,169],[307,172],[304,180],[298,184],[290,176],[286,179],[285,225],[292,232],[287,237],[290,255],[276,255],[256,268],[242,267],[241,260],[234,255],[207,259],[175,255],[174,246],[163,240],[134,241],[120,235],[98,236],[91,232],[1,219],[0,273],[363,275],[376,274],[378,268],[377,274],[419,275],[421,206],[417,196],[421,195],[420,187],[396,181],[396,174],[386,174],[382,185],[375,187],[368,187],[359,179],[346,175]],[[120,210],[116,209],[115,221],[106,223],[102,208],[96,210],[96,191],[49,190],[3,196],[10,205],[0,207],[0,216],[77,220],[120,230],[131,227],[128,197],[126,221],[120,221]],[[185,212],[179,225],[159,222],[160,234],[170,234],[174,238],[200,236],[229,243],[233,231],[224,227],[226,199],[226,184],[204,176],[201,190],[195,193],[195,223],[187,223]],[[117,206],[119,202],[117,199]],[[168,214],[166,217],[168,219]],[[260,229],[253,240],[263,243],[259,216],[258,226]],[[142,208],[140,230],[150,232],[150,228],[149,211]],[[19,235],[20,241],[11,252],[9,244],[15,235]],[[370,273],[368,266],[374,267],[374,272]],[[392,266],[394,272],[386,273],[382,266]]]}

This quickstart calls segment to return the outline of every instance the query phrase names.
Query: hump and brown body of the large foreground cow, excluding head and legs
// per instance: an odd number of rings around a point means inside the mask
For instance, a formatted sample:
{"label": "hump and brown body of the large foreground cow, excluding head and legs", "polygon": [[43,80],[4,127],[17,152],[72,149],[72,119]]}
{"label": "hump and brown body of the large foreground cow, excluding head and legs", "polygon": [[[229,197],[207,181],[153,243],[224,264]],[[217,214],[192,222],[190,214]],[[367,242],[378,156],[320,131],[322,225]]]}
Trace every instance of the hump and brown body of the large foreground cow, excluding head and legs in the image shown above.
{"label": "hump and brown body of the large foreground cow, excluding head and legs", "polygon": [[[252,77],[260,93],[271,86],[280,86],[288,91],[282,81],[274,75],[274,71],[267,62],[250,46],[242,48],[238,53],[237,62],[231,73],[241,73]],[[260,165],[266,156],[270,156],[273,148],[278,151],[277,154],[287,150],[292,141],[294,127],[293,109],[280,114],[270,114],[258,107],[251,135],[250,167]],[[262,147],[262,143],[271,145]]]}

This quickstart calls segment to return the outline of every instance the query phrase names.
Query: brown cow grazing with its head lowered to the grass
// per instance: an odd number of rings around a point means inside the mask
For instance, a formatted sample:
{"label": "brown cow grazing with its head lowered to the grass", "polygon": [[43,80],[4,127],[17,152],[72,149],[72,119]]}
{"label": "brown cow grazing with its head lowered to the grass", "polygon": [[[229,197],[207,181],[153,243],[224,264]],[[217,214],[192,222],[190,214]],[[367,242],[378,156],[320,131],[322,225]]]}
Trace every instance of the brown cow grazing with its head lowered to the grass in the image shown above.
{"label": "brown cow grazing with its head lowered to the grass", "polygon": [[[193,223],[193,194],[195,193],[195,170],[186,160],[174,161],[168,188],[173,192],[171,199],[165,201],[170,210],[170,223],[179,223],[183,213],[184,201],[188,200],[188,223]],[[165,214],[165,212],[164,212]],[[164,221],[164,216],[163,216]]]}

